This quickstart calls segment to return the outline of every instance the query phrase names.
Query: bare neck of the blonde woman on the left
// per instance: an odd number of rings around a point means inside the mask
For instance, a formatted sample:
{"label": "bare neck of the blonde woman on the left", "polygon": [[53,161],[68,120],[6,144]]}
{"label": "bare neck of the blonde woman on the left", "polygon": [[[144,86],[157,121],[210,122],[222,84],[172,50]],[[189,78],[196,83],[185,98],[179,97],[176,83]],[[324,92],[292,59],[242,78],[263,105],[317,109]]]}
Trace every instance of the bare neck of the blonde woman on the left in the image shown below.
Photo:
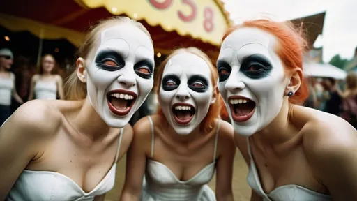
{"label": "bare neck of the blonde woman on the left", "polygon": [[77,117],[73,120],[73,125],[75,125],[75,129],[78,133],[86,135],[92,141],[105,137],[110,129],[96,110],[94,110],[88,96],[84,100]]}

